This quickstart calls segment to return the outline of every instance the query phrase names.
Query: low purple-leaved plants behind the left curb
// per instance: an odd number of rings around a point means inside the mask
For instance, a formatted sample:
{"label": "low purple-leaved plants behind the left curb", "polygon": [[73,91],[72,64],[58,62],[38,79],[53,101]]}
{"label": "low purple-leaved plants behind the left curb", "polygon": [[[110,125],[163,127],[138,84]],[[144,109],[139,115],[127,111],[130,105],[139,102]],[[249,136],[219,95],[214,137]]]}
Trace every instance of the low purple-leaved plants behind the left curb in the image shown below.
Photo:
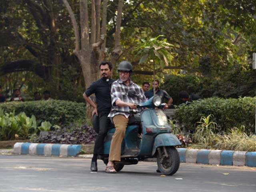
{"label": "low purple-leaved plants behind the left curb", "polygon": [[59,144],[88,144],[95,140],[96,132],[92,126],[83,125],[76,128],[61,128],[33,138],[32,142]]}

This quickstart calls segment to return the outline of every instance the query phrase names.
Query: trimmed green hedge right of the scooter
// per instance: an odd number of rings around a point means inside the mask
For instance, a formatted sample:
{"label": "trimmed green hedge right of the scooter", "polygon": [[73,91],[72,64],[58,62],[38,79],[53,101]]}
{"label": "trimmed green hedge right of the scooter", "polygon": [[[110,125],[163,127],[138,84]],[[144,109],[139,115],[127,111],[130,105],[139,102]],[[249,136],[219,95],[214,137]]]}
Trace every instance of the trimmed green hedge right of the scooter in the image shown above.
{"label": "trimmed green hedge right of the scooter", "polygon": [[255,132],[256,97],[238,99],[207,98],[177,106],[174,118],[187,130],[193,131],[202,116],[212,114],[210,121],[218,124],[219,131],[244,126],[245,131]]}

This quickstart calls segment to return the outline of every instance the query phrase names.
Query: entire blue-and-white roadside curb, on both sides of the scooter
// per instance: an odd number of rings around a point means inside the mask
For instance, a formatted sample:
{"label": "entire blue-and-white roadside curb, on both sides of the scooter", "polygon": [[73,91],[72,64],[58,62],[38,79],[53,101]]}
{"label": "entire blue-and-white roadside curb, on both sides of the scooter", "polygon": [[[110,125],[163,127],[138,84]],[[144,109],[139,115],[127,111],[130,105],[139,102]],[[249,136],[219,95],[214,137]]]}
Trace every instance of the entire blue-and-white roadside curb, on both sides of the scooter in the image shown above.
{"label": "entire blue-and-white roadside curb, on both sides of the scooter", "polygon": [[[14,145],[13,154],[92,158],[92,154],[79,155],[81,149],[82,145],[18,142]],[[180,162],[184,163],[256,167],[256,152],[187,148],[177,148],[177,150],[180,155]],[[144,161],[156,162],[156,158],[148,158]]]}

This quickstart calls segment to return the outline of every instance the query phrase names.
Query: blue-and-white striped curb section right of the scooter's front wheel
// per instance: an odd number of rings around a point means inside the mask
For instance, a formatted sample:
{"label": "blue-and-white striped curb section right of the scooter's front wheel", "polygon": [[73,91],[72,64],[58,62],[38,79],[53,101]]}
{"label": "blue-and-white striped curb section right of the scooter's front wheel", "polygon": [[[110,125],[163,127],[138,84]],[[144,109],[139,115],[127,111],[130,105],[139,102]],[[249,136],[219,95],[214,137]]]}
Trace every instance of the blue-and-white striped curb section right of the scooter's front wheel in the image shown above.
{"label": "blue-and-white striped curb section right of the scooter's front wheel", "polygon": [[256,152],[177,148],[180,162],[256,167]]}

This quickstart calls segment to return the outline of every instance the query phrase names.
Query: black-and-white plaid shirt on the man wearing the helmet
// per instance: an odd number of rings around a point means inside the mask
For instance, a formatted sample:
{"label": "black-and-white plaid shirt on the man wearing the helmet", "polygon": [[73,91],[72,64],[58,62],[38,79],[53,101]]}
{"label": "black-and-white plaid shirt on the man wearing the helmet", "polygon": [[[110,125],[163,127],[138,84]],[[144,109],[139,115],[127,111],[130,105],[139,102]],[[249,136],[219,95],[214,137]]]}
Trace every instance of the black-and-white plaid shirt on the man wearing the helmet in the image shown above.
{"label": "black-and-white plaid shirt on the man wearing the helmet", "polygon": [[[136,92],[136,95],[139,96],[141,99],[137,97],[129,97],[128,96],[128,91],[129,90],[134,90]],[[116,100],[120,99],[123,102],[130,102],[134,104],[140,104],[142,102],[145,102],[147,100],[146,96],[144,95],[144,92],[140,86],[132,82],[130,80],[130,84],[126,85],[123,83],[120,79],[116,80],[115,82],[112,83],[112,88],[111,88],[111,99],[112,99],[112,108],[110,111],[110,114],[108,117],[112,118],[118,114],[124,115],[126,118],[130,116],[130,114],[136,114],[141,112],[142,109],[130,109],[129,107],[119,107],[116,106]]]}

